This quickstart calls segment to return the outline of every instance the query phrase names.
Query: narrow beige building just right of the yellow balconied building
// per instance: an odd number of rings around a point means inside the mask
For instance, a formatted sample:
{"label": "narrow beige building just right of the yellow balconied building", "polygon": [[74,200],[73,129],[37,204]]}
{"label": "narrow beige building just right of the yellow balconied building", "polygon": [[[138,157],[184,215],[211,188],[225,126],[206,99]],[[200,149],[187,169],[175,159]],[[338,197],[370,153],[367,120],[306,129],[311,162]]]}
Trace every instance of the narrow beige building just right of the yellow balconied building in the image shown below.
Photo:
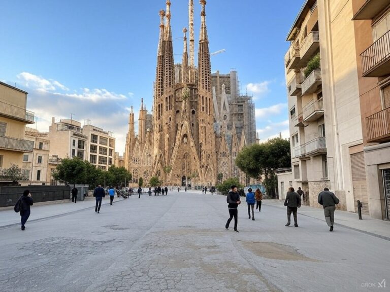
{"label": "narrow beige building just right of the yellow balconied building", "polygon": [[25,139],[34,142],[32,153],[23,154],[22,173],[29,178],[29,185],[50,184],[50,180],[47,180],[50,150],[47,136],[47,133],[40,133],[36,129],[26,127]]}

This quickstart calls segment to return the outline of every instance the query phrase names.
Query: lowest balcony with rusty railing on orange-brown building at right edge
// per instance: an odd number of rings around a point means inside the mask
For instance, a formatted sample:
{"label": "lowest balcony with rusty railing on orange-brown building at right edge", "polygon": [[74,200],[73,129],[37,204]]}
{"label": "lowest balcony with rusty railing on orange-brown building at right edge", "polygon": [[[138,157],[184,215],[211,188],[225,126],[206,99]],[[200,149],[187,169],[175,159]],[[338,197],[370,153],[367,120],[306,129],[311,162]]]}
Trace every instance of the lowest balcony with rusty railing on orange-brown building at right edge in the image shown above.
{"label": "lowest balcony with rusty railing on orange-brown building at right edge", "polygon": [[390,140],[390,107],[366,118],[367,142]]}

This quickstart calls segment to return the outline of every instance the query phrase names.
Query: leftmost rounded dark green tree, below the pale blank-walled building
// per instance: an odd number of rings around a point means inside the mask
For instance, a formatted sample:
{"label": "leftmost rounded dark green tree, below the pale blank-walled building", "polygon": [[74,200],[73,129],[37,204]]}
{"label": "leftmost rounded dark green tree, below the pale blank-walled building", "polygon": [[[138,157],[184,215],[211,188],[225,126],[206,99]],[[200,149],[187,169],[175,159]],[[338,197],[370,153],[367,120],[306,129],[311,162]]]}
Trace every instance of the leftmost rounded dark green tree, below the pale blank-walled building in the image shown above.
{"label": "leftmost rounded dark green tree, below the pale blank-walled building", "polygon": [[53,173],[53,177],[64,184],[85,184],[86,163],[80,158],[62,159]]}

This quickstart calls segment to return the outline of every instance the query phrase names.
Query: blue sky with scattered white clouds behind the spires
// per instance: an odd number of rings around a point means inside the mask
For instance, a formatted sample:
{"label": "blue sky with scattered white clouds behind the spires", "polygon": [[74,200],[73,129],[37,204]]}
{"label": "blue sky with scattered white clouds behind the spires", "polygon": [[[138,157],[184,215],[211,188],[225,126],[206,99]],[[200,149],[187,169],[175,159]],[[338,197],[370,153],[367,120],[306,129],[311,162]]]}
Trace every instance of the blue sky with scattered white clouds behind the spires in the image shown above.
{"label": "blue sky with scattered white clouds behind the spires", "polygon": [[[90,120],[111,131],[124,151],[128,114],[141,98],[150,111],[160,9],[165,0],[0,0],[0,81],[27,91],[30,125],[49,130],[51,118]],[[288,138],[284,78],[286,35],[304,0],[208,0],[212,71],[238,71],[253,95],[259,138]],[[181,62],[188,0],[171,0],[175,63]],[[200,10],[194,1],[196,56]],[[197,63],[197,59],[195,60]]]}

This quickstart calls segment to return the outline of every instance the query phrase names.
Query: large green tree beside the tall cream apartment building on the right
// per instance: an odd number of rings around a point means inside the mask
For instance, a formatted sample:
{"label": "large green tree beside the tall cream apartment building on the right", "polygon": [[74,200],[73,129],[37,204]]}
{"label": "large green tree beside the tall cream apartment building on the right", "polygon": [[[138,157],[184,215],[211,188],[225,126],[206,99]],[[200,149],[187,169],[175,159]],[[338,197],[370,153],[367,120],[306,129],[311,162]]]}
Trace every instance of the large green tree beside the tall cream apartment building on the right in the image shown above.
{"label": "large green tree beside the tall cream apartment building on the right", "polygon": [[277,187],[275,170],[291,167],[290,142],[274,138],[263,144],[247,146],[238,154],[236,165],[250,177],[258,178],[264,175],[263,185],[268,195],[274,198]]}

